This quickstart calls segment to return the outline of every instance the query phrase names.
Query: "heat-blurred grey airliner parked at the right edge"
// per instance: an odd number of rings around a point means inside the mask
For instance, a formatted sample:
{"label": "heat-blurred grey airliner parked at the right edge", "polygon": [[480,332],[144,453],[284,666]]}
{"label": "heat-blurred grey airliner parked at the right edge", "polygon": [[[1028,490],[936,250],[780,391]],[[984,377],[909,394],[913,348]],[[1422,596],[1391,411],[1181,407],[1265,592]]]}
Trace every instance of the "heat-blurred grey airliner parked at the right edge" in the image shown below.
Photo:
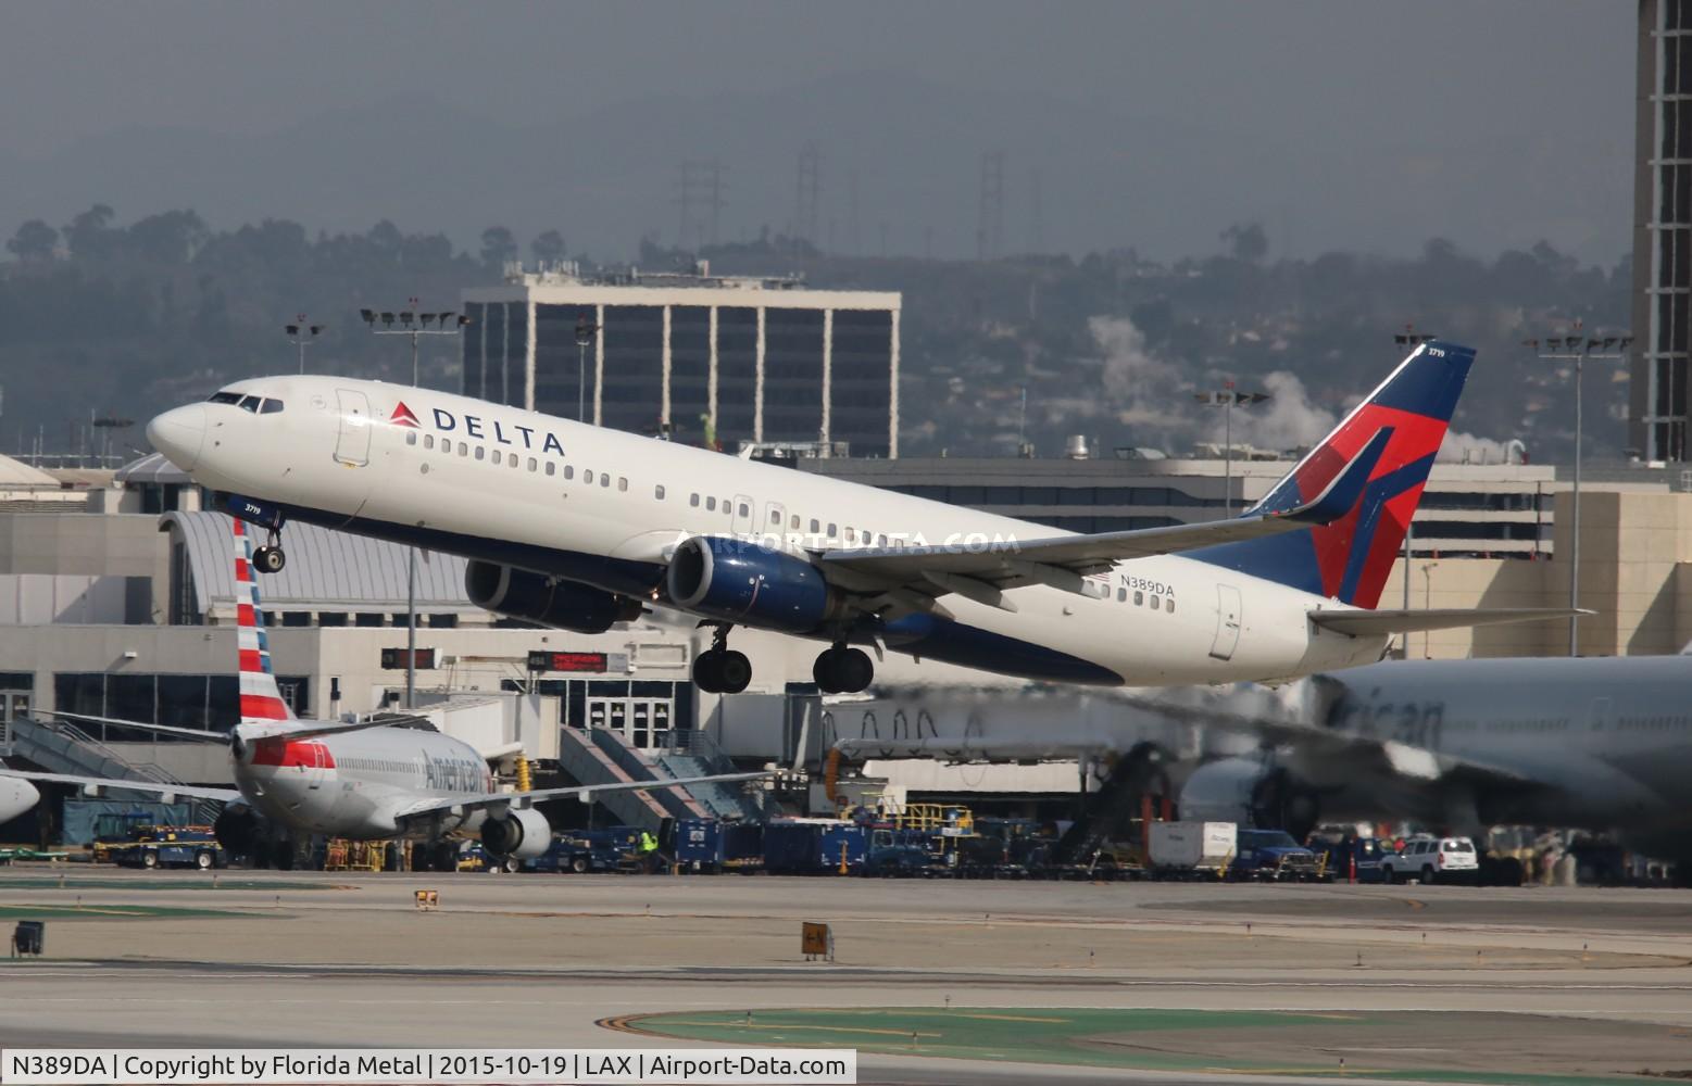
{"label": "heat-blurred grey airliner parked at the right edge", "polygon": [[[1404,660],[1316,675],[1279,705],[1186,719],[1262,738],[1201,766],[1183,817],[1616,831],[1692,859],[1692,658]],[[1179,712],[1179,710],[1178,710]]]}

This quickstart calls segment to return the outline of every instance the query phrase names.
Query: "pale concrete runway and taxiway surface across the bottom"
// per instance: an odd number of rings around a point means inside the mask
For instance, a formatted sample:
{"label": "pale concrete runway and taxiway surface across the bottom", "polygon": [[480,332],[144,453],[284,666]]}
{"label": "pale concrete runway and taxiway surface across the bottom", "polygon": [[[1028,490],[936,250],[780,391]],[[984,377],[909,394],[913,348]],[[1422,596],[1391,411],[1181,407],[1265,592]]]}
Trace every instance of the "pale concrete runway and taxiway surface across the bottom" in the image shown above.
{"label": "pale concrete runway and taxiway surface across the bottom", "polygon": [[[47,922],[44,959],[0,964],[0,1045],[861,1030],[865,1083],[1321,1081],[1342,1059],[1347,1078],[1440,1081],[1692,1071],[1685,891],[107,868],[59,883],[0,871],[0,919]],[[438,912],[415,908],[418,888]],[[834,963],[804,959],[804,920],[832,927]],[[973,1017],[934,1017],[953,1010]],[[924,1034],[944,1044],[924,1052]],[[983,1054],[1003,1062],[958,1059]]]}

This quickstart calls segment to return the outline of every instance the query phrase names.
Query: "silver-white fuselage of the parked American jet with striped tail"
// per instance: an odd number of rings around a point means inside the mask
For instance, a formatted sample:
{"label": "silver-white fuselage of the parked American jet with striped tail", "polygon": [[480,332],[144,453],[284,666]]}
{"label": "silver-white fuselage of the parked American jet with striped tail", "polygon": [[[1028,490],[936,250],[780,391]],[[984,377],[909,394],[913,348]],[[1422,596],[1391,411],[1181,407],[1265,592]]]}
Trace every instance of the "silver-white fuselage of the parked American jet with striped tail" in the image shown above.
{"label": "silver-white fuselage of the parked American jet with striped tail", "polygon": [[437,837],[475,829],[482,812],[431,815],[401,825],[423,800],[487,795],[492,773],[467,743],[433,731],[372,727],[315,739],[259,739],[242,744],[235,787],[255,810],[308,834],[377,841],[401,832]]}

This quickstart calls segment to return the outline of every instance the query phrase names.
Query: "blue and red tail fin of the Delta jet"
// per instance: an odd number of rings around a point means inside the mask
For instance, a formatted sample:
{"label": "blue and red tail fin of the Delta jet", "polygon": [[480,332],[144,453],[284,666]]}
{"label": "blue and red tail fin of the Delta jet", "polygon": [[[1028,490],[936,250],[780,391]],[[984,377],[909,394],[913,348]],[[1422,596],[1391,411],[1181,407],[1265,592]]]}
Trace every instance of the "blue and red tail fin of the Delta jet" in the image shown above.
{"label": "blue and red tail fin of the Delta jet", "polygon": [[1409,518],[1416,514],[1474,360],[1472,347],[1443,340],[1413,350],[1247,516],[1284,513],[1313,501],[1359,452],[1387,435],[1349,513],[1306,531],[1206,546],[1186,557],[1374,607],[1404,545]]}

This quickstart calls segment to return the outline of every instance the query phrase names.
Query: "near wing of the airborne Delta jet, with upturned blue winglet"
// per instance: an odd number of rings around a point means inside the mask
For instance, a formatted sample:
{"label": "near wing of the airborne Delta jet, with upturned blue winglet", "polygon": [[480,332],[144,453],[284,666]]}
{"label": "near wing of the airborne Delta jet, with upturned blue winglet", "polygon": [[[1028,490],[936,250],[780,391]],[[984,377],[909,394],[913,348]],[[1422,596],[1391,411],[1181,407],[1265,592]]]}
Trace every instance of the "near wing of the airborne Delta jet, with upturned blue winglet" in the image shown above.
{"label": "near wing of the airborne Delta jet, with upturned blue winglet", "polygon": [[1002,599],[1000,589],[1022,584],[1046,584],[1090,595],[1093,592],[1085,577],[1108,570],[1115,562],[1299,531],[1345,516],[1362,496],[1369,472],[1391,436],[1389,430],[1376,435],[1315,501],[1284,513],[1042,540],[831,550],[819,555],[817,562],[824,573],[844,572],[856,575],[851,580],[860,584],[924,585],[926,592],[958,592],[1005,611],[1015,611],[1015,604]]}

